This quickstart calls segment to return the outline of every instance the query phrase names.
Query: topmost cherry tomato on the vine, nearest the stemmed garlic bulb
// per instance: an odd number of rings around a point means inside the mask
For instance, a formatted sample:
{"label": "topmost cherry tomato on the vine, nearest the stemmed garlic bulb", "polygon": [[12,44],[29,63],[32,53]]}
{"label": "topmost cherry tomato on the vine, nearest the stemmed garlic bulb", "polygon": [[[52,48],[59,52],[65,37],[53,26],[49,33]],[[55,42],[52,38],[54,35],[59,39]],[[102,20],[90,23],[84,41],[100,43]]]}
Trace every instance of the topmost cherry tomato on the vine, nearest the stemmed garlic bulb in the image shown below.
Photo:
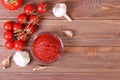
{"label": "topmost cherry tomato on the vine, nearest the stemmed garlic bulb", "polygon": [[48,9],[47,3],[41,2],[37,5],[37,11],[40,14],[46,13]]}

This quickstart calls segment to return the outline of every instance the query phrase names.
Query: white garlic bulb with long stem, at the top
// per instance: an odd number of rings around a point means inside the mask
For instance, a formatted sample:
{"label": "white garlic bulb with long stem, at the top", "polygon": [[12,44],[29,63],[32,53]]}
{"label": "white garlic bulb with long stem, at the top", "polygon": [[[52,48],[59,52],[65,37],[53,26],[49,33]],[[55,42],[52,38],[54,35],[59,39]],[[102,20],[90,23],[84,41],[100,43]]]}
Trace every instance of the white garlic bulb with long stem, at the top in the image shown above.
{"label": "white garlic bulb with long stem, at the top", "polygon": [[68,21],[72,21],[72,19],[66,14],[67,6],[65,3],[57,3],[53,8],[53,14],[56,17],[64,16]]}

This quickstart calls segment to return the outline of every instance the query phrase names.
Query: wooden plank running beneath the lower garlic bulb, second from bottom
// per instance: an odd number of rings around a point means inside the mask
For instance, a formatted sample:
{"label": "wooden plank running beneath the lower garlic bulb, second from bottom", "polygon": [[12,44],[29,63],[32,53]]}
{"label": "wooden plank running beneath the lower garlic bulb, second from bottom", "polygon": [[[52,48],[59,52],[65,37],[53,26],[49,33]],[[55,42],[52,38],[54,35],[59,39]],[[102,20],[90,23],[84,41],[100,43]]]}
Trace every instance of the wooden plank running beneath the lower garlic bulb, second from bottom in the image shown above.
{"label": "wooden plank running beneath the lower garlic bulb, second from bottom", "polygon": [[[46,66],[47,68],[40,71],[43,73],[114,73],[120,72],[120,47],[65,47],[65,52],[55,63]],[[26,48],[29,50],[29,48]],[[69,51],[68,51],[69,50]],[[4,47],[0,47],[0,62],[9,54],[14,54],[15,50],[8,51]],[[87,53],[89,52],[89,53]],[[94,53],[94,54],[93,54]],[[0,72],[6,73],[32,73],[33,67],[40,64],[32,57],[31,63],[25,67],[20,68],[16,66],[12,60],[11,67]]]}

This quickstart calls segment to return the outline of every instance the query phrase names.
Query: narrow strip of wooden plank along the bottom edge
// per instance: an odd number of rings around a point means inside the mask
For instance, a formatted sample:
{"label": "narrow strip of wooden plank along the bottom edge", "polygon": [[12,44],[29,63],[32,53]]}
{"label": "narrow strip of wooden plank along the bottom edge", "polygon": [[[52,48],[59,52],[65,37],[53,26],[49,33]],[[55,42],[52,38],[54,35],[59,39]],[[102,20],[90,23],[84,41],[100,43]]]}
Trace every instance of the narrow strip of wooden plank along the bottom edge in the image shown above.
{"label": "narrow strip of wooden plank along the bottom edge", "polygon": [[[0,73],[1,80],[119,80],[120,73]],[[9,76],[9,77],[8,77]]]}

